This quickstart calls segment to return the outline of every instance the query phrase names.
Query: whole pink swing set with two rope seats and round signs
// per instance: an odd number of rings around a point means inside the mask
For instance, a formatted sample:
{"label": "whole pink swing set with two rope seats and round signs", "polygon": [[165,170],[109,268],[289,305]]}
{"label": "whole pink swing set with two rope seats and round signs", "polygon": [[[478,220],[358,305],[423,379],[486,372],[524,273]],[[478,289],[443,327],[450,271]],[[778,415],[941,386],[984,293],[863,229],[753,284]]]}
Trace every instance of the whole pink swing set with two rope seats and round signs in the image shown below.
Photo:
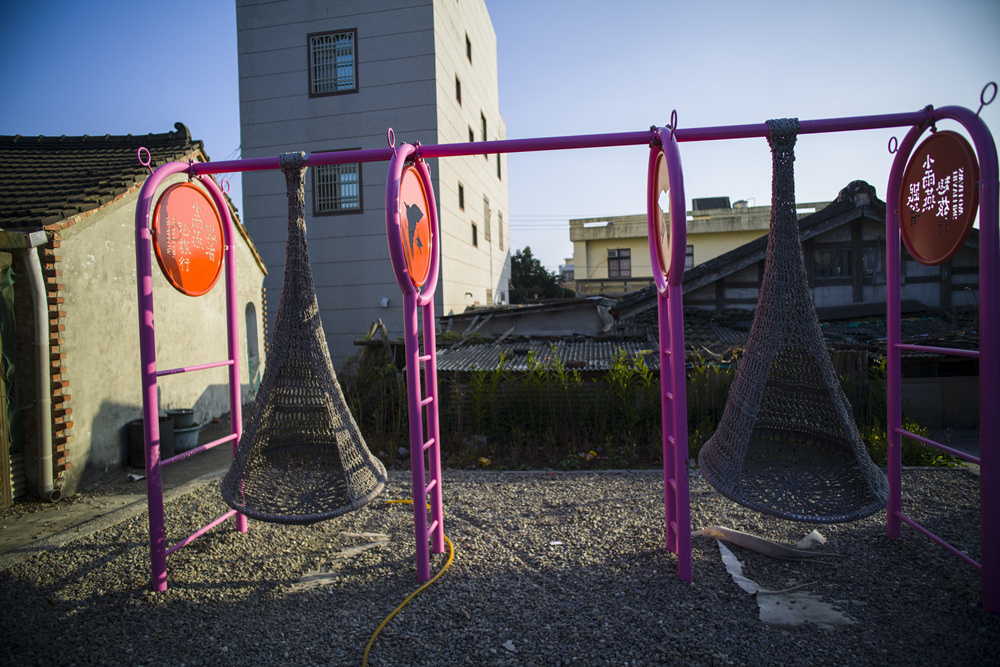
{"label": "whole pink swing set with two rope seats and round signs", "polygon": [[[992,87],[992,97],[986,99]],[[153,590],[167,588],[167,557],[215,526],[234,518],[239,532],[247,517],[306,524],[363,506],[385,487],[384,466],[367,449],[337,382],[319,318],[305,243],[303,174],[309,166],[388,162],[386,234],[389,256],[403,295],[410,456],[413,481],[416,568],[430,579],[430,553],[445,549],[438,420],[434,294],[440,264],[437,208],[424,160],[489,153],[648,145],[647,217],[650,257],[657,291],[666,547],[677,558],[678,576],[691,581],[691,527],[687,477],[687,405],[681,285],[686,247],[686,209],[679,144],[766,138],[771,146],[772,213],[760,300],[740,365],[716,434],[699,463],[706,479],[728,498],[757,511],[799,521],[838,523],[887,509],[887,531],[900,537],[914,529],[980,571],[982,601],[1000,613],[1000,222],[997,152],[979,117],[996,96],[995,83],[980,95],[979,110],[927,107],[920,111],[752,125],[679,128],[676,111],[665,127],[613,134],[395,145],[336,153],[285,153],[280,157],[204,163],[171,162],[146,179],[136,207],[136,266],[139,301],[142,400]],[[972,140],[938,131],[954,121]],[[886,322],[888,465],[882,472],[868,457],[850,417],[823,344],[806,283],[792,162],[799,134],[909,128],[894,153],[886,201]],[[930,136],[917,142],[927,131]],[[915,150],[916,149],[916,150]],[[915,152],[914,152],[915,151]],[[911,157],[912,156],[912,157]],[[140,149],[140,160],[142,149]],[[148,165],[148,162],[144,162]],[[246,430],[242,416],[239,309],[236,300],[235,232],[229,208],[213,174],[281,170],[289,199],[286,267],[271,353]],[[157,197],[164,181],[184,174]],[[941,183],[947,186],[941,188]],[[195,185],[197,183],[198,185]],[[173,198],[172,203],[171,198]],[[668,202],[664,209],[662,202]],[[172,207],[172,208],[171,208]],[[197,226],[189,224],[198,211]],[[900,342],[902,239],[924,264],[950,259],[965,243],[979,213],[979,341],[966,350]],[[208,215],[214,220],[201,224]],[[187,218],[185,218],[185,215]],[[169,222],[168,222],[169,221]],[[205,232],[204,230],[209,230]],[[200,248],[217,234],[209,257]],[[178,243],[187,238],[195,243]],[[207,293],[224,275],[228,358],[158,370],[154,324],[152,257],[168,282],[193,297]],[[420,338],[423,338],[421,345]],[[902,428],[903,351],[957,355],[979,362],[981,455],[972,456]],[[231,432],[171,458],[160,458],[157,384],[164,376],[228,368]],[[902,507],[903,437],[980,466],[981,562],[907,516]],[[232,443],[233,464],[222,495],[233,508],[167,546],[161,468],[205,450]],[[428,519],[428,510],[430,517]]]}

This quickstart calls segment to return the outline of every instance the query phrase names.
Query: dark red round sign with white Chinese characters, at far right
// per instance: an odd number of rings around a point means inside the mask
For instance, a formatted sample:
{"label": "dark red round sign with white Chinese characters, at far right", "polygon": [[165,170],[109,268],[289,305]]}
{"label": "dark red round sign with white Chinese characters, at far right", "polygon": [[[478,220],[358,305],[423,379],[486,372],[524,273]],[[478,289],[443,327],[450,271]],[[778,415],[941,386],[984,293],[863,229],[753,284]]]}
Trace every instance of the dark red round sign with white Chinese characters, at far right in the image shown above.
{"label": "dark red round sign with white Chinese characters, at far right", "polygon": [[972,231],[979,206],[979,163],[955,132],[936,132],[914,151],[899,192],[899,227],[921,264],[951,259]]}

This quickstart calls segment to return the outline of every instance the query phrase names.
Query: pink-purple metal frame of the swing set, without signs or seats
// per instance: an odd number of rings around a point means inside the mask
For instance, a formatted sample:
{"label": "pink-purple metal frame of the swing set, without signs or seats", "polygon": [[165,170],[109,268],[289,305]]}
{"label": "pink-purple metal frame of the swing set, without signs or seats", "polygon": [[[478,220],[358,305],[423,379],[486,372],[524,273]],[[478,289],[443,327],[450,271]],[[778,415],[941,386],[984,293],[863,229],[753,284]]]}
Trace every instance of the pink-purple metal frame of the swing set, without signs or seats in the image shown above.
{"label": "pink-purple metal frame of the swing set, without signs or seats", "polygon": [[[985,123],[968,109],[945,107],[934,110],[930,107],[922,111],[884,114],[875,116],[857,116],[851,118],[832,118],[821,120],[800,121],[800,134],[827,132],[844,132],[866,129],[884,129],[893,127],[911,127],[909,134],[899,146],[898,154],[889,176],[887,202],[889,204],[886,220],[887,229],[887,272],[889,275],[899,275],[899,227],[898,213],[895,211],[899,199],[902,170],[905,167],[906,156],[910,154],[917,138],[924,129],[937,120],[953,119],[961,123],[970,133],[975,145],[980,167],[980,340],[982,347],[976,353],[954,352],[978,356],[980,362],[980,438],[982,454],[978,460],[981,466],[981,520],[982,520],[982,562],[971,563],[982,572],[983,606],[989,611],[1000,613],[1000,532],[993,527],[1000,525],[1000,451],[998,451],[998,434],[1000,434],[1000,412],[995,409],[1000,397],[1000,257],[998,257],[998,220],[997,220],[997,154]],[[614,134],[596,134],[564,137],[545,137],[536,139],[514,139],[500,141],[481,141],[462,144],[441,144],[429,146],[410,146],[404,144],[399,149],[367,149],[343,151],[337,153],[316,153],[306,160],[307,166],[343,164],[350,162],[389,162],[389,176],[386,184],[386,231],[389,239],[390,257],[397,282],[403,292],[405,339],[407,350],[407,382],[410,404],[410,441],[411,465],[413,466],[414,523],[415,541],[417,543],[417,569],[422,580],[429,578],[429,547],[433,543],[435,552],[444,549],[443,544],[443,512],[440,467],[440,433],[437,422],[437,365],[434,341],[434,289],[437,281],[440,249],[435,248],[432,260],[432,275],[419,291],[413,287],[405,270],[400,240],[398,203],[399,179],[403,166],[412,161],[417,165],[421,178],[425,180],[427,169],[422,160],[428,158],[457,157],[464,155],[482,155],[484,153],[515,153],[530,151],[567,150],[577,148],[599,148],[610,146],[644,145],[651,146],[652,160],[659,151],[663,151],[668,165],[670,178],[670,229],[671,257],[669,271],[666,277],[660,275],[656,279],[658,293],[658,313],[660,322],[660,362],[661,391],[663,406],[663,450],[664,450],[664,507],[666,523],[667,548],[677,554],[678,575],[690,581],[691,579],[691,545],[690,545],[690,506],[687,479],[687,414],[686,387],[684,376],[684,330],[683,330],[683,299],[681,282],[683,278],[685,250],[685,202],[683,193],[683,178],[681,177],[680,156],[677,144],[686,141],[719,141],[751,137],[766,137],[766,123],[753,125],[732,125],[724,127],[705,127],[678,129],[676,120],[672,119],[671,127],[652,128],[641,132],[622,132]],[[152,304],[152,265],[150,259],[151,245],[149,234],[149,211],[156,188],[166,176],[186,172],[191,177],[208,174],[232,173],[244,171],[265,171],[279,169],[278,158],[256,158],[223,162],[195,163],[183,165],[170,163],[157,169],[153,176],[143,186],[140,202],[136,209],[136,257],[139,281],[140,305],[140,342],[142,346],[142,377],[143,377],[143,407],[146,416],[147,462],[149,464],[149,508],[150,508],[150,550],[153,567],[153,587],[156,590],[166,588],[166,553],[172,552],[195,539],[212,526],[224,521],[232,513],[223,515],[212,524],[182,540],[171,549],[166,549],[163,539],[163,502],[160,483],[159,466],[174,460],[189,456],[185,453],[169,461],[159,461],[159,432],[156,396],[156,378],[161,375],[194,370],[195,368],[156,371],[155,362],[155,328],[153,326]],[[232,261],[233,248],[232,221],[223,197],[211,179],[203,179],[203,184],[212,194],[220,212],[223,213],[227,235],[226,250],[226,289],[227,311],[229,319],[230,358],[216,365],[230,366],[230,403],[233,414],[233,432],[217,443],[206,445],[199,450],[221,444],[221,442],[238,441],[240,435],[240,400],[239,400],[239,365],[238,365],[238,326],[235,308],[235,269]],[[650,176],[650,193],[647,208],[650,218],[650,233],[654,230],[653,217],[656,214],[653,192],[656,184]],[[433,190],[427,187],[428,192]],[[393,194],[395,193],[395,194]],[[430,195],[433,197],[433,194]],[[430,202],[432,230],[438,232],[436,209]],[[393,210],[397,209],[396,213]],[[436,237],[435,237],[436,242]],[[650,237],[653,246],[653,238]],[[659,266],[659,259],[653,257],[654,267]],[[654,271],[654,275],[657,272]],[[893,286],[893,283],[896,283]],[[890,377],[888,419],[890,425],[889,445],[889,480],[891,499],[889,503],[888,531],[890,536],[899,537],[901,523],[908,523],[932,540],[942,544],[960,558],[970,561],[954,547],[946,545],[943,540],[929,531],[917,526],[907,518],[900,508],[901,497],[901,464],[899,456],[900,437],[909,434],[901,428],[900,418],[900,379],[899,355],[902,349],[917,349],[899,343],[899,292],[898,282],[890,281],[887,297],[888,308],[888,355]],[[421,354],[419,346],[420,325],[417,311],[422,310],[424,346]],[[929,349],[929,348],[920,348]],[[936,349],[933,351],[937,351]],[[421,368],[423,368],[423,391],[420,389]],[[426,430],[424,416],[426,414]],[[944,451],[958,455],[939,443],[934,444]],[[425,466],[425,455],[430,457],[429,471]],[[964,457],[969,458],[969,457]],[[975,459],[970,459],[974,460]],[[427,480],[427,475],[430,480]],[[431,522],[428,526],[425,503],[429,499],[431,505]],[[245,518],[238,518],[239,529],[245,530]]]}

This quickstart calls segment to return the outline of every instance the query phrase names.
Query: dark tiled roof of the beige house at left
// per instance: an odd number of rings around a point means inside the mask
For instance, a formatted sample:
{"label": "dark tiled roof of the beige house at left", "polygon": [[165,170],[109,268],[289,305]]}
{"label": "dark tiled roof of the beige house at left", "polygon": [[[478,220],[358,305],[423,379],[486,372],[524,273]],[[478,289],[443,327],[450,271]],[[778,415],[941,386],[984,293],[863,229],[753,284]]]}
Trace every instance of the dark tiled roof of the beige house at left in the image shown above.
{"label": "dark tiled roof of the beige house at left", "polygon": [[145,136],[0,136],[0,228],[42,227],[113,201],[149,175],[140,146],[154,167],[203,152],[182,123],[174,127]]}

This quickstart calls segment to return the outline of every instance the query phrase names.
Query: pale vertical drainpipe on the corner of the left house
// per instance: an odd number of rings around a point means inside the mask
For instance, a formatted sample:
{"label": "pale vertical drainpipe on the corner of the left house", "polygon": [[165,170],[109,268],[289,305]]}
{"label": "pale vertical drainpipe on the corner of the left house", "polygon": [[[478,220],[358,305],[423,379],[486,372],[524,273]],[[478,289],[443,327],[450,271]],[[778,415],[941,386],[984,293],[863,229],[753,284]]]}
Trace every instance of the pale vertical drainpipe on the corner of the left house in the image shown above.
{"label": "pale vertical drainpipe on the corner of the left house", "polygon": [[54,488],[52,479],[52,375],[49,370],[49,301],[45,293],[45,278],[38,246],[46,242],[45,232],[32,232],[24,250],[28,267],[28,283],[35,306],[35,392],[38,397],[38,495],[56,502],[62,491]]}

